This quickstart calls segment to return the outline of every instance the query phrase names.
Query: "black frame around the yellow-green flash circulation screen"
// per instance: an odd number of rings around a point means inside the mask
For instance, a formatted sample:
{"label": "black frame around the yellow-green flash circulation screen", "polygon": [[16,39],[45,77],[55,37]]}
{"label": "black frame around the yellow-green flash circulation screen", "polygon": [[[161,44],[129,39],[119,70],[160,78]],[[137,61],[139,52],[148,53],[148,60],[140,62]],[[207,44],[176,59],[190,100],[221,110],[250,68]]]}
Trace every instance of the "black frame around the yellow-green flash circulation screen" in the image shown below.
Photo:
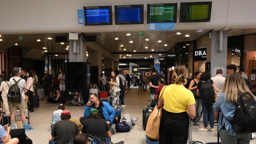
{"label": "black frame around the yellow-green flash circulation screen", "polygon": [[[209,5],[208,9],[208,19],[201,20],[183,20],[182,19],[182,8],[184,5]],[[180,13],[179,13],[179,22],[210,22],[211,21],[211,12],[212,12],[212,1],[211,2],[181,2],[180,3]]]}

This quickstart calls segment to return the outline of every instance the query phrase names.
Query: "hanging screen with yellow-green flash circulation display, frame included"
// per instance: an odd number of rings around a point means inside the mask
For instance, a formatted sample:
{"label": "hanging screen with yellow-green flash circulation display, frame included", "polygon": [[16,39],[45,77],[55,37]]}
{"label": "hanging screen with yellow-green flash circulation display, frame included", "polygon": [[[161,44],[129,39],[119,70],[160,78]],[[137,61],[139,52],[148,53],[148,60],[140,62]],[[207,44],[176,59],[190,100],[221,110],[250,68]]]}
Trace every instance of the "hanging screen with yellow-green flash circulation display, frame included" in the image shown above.
{"label": "hanging screen with yellow-green flash circulation display, frame included", "polygon": [[181,2],[180,22],[210,22],[212,2]]}

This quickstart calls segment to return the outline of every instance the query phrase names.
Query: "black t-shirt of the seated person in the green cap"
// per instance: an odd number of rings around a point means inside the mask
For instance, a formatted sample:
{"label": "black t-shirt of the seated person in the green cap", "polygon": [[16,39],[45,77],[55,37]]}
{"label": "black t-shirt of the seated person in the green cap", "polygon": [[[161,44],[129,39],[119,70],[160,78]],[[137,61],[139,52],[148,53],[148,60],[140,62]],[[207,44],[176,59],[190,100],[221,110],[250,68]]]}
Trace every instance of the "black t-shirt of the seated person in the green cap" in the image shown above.
{"label": "black t-shirt of the seated person in the green cap", "polygon": [[106,137],[109,126],[104,119],[89,118],[83,123],[82,133],[89,133],[100,138]]}

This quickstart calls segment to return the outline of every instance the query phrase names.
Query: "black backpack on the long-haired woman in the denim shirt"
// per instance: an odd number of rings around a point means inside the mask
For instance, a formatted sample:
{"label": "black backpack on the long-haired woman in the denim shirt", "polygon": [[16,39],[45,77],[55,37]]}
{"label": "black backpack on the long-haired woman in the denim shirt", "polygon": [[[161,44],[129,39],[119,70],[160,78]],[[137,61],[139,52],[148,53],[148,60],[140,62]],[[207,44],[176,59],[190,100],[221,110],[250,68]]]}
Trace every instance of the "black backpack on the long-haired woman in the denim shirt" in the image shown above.
{"label": "black backpack on the long-haired woman in the denim shirt", "polygon": [[237,100],[232,128],[241,133],[256,132],[256,101],[251,97],[247,102],[240,96]]}

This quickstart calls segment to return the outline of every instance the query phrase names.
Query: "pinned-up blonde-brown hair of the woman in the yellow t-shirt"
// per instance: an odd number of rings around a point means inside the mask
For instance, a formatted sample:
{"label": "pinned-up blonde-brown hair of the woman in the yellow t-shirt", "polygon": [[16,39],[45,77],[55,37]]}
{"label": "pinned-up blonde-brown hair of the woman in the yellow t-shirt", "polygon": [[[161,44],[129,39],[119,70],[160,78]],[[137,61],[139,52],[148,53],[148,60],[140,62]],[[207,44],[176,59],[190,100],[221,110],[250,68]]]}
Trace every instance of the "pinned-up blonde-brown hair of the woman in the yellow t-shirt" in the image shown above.
{"label": "pinned-up blonde-brown hair of the woman in the yellow t-shirt", "polygon": [[173,71],[173,76],[172,76],[172,80],[174,83],[177,84],[181,84],[181,83],[186,83],[187,81],[187,77],[188,77],[188,72],[186,67],[184,67],[183,65],[177,65],[174,68]]}

